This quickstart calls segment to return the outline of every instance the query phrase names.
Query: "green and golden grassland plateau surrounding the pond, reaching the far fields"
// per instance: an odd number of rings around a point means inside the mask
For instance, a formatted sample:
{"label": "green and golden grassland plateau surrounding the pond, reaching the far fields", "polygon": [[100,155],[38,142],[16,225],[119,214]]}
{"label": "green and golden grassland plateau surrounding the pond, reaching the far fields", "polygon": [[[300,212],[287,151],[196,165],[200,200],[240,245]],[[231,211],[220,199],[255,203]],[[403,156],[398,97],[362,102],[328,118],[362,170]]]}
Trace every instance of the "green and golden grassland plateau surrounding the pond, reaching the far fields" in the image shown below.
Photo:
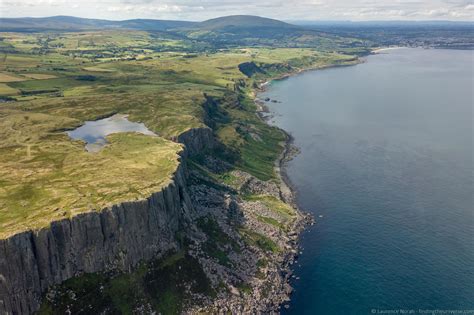
{"label": "green and golden grassland plateau surrounding the pond, reaching the far fields", "polygon": [[[169,140],[207,124],[223,144],[216,154],[234,169],[274,179],[285,135],[255,115],[251,87],[262,78],[247,78],[238,65],[253,61],[268,77],[289,64],[296,70],[350,58],[300,48],[202,52],[198,43],[159,32],[1,36],[8,51],[0,56],[0,96],[16,100],[0,102],[2,238],[147,197],[166,185],[179,163],[181,147]],[[190,52],[193,47],[199,48]],[[213,110],[203,106],[206,96],[216,100]],[[88,154],[63,132],[113,113],[143,122],[160,137],[114,135],[104,150]],[[225,174],[215,179],[235,181]]]}

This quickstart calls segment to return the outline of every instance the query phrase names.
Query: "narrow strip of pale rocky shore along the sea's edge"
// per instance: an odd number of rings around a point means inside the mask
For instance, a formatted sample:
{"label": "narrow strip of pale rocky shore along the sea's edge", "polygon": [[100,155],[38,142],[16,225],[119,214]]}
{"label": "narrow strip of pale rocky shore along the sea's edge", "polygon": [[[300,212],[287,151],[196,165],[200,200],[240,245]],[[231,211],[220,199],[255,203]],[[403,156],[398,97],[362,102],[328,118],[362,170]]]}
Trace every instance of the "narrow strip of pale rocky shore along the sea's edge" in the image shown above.
{"label": "narrow strip of pale rocky shore along the sea's edge", "polygon": [[[259,97],[258,94],[262,93],[266,90],[267,85],[271,81],[276,80],[283,80],[289,78],[291,76],[295,76],[301,74],[306,71],[312,70],[322,70],[328,68],[335,68],[335,67],[346,67],[357,65],[360,63],[365,62],[364,59],[359,57],[354,57],[354,59],[347,60],[346,63],[343,64],[332,64],[332,65],[324,65],[324,66],[316,66],[316,67],[308,67],[303,69],[298,69],[296,71],[284,73],[282,75],[270,78],[266,81],[260,82],[257,84],[257,87],[253,90],[253,98],[254,102],[257,106],[256,114],[257,116],[264,121],[266,124],[269,124],[270,119],[273,117],[269,108]],[[278,100],[271,100],[266,99],[266,102],[273,102],[277,103]],[[310,214],[305,212],[303,209],[300,209],[296,202],[296,195],[297,191],[291,183],[288,174],[286,173],[285,166],[286,163],[291,161],[291,159],[299,153],[299,149],[294,145],[294,139],[285,130],[279,128],[286,136],[286,141],[282,143],[283,151],[281,152],[279,158],[275,161],[275,171],[278,177],[278,195],[277,197],[279,200],[284,202],[285,204],[289,205],[291,208],[295,210],[296,213],[296,220],[291,225],[291,228],[286,233],[287,242],[283,244],[284,251],[281,253],[280,257],[275,257],[277,264],[274,266],[277,272],[270,273],[267,275],[277,283],[278,285],[273,286],[272,289],[268,292],[268,299],[266,299],[265,303],[262,304],[261,296],[258,294],[259,290],[261,290],[262,286],[265,283],[257,283],[254,287],[254,294],[252,295],[253,298],[251,299],[244,299],[242,301],[242,296],[239,294],[235,294],[229,298],[224,298],[223,300],[217,300],[214,302],[214,306],[216,308],[204,308],[204,310],[217,310],[219,313],[230,311],[231,313],[279,313],[281,308],[289,308],[289,301],[292,293],[292,287],[290,285],[290,280],[295,278],[293,276],[291,267],[297,263],[298,257],[302,254],[302,249],[299,246],[299,237],[301,233],[306,229],[309,225],[315,224],[314,217]],[[245,176],[250,176],[246,174]],[[261,189],[262,186],[266,186],[268,183],[261,182],[258,179],[252,179],[254,183],[259,183],[257,186],[260,186],[259,189],[256,189],[254,192],[264,192],[265,194],[275,194],[272,189]],[[239,203],[238,203],[239,204]],[[245,212],[245,203],[240,203],[239,206],[244,209]],[[272,236],[271,233],[268,233],[267,236]],[[242,303],[243,302],[243,303]],[[244,305],[245,307],[242,307]],[[199,309],[201,310],[201,309]]]}

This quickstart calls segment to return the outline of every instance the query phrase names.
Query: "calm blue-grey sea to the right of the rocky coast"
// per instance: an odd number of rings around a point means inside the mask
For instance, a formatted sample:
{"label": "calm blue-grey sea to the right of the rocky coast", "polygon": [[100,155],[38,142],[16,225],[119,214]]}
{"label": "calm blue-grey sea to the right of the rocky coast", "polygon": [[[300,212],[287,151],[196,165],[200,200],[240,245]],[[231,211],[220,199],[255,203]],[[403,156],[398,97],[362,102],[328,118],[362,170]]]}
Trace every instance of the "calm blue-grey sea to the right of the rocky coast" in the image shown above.
{"label": "calm blue-grey sea to the right of the rocky coast", "polygon": [[260,95],[301,149],[287,172],[317,220],[284,314],[474,310],[473,58],[388,50]]}

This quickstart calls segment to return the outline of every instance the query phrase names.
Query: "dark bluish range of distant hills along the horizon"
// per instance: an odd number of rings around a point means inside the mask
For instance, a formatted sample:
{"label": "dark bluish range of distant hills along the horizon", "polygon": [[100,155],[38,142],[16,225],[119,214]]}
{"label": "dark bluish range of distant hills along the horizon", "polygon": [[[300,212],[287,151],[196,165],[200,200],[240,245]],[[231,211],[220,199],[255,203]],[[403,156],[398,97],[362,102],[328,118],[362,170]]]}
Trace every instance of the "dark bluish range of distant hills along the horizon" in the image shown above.
{"label": "dark bluish range of distant hills along the horizon", "polygon": [[[252,16],[232,15],[204,22],[133,19],[109,21],[71,16],[45,18],[0,18],[0,32],[93,31],[131,29],[166,32],[199,42],[203,47],[226,48],[235,46],[318,47],[332,50],[341,37],[282,21]],[[354,41],[343,40],[359,46]]]}

